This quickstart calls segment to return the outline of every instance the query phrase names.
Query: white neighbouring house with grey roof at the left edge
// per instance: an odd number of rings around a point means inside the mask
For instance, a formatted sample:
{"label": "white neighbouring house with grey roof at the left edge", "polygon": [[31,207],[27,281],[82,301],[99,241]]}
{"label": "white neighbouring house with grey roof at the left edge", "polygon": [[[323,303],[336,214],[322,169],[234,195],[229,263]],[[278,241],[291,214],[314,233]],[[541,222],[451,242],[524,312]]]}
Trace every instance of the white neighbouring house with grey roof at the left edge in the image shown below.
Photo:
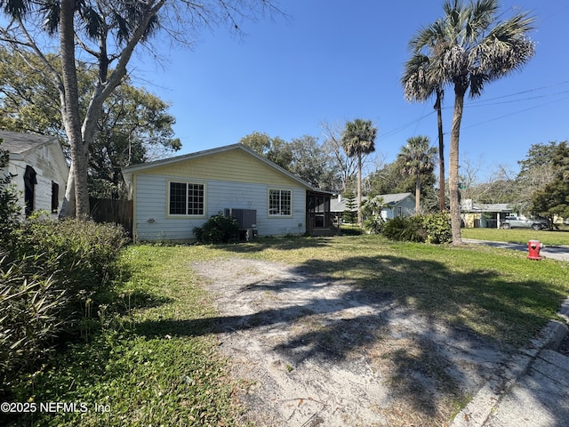
{"label": "white neighbouring house with grey roof at the left edge", "polygon": [[20,194],[23,213],[44,210],[57,215],[69,174],[60,142],[52,136],[7,131],[0,131],[0,139],[4,140],[0,148],[10,154],[8,167],[0,173],[15,175],[12,184]]}

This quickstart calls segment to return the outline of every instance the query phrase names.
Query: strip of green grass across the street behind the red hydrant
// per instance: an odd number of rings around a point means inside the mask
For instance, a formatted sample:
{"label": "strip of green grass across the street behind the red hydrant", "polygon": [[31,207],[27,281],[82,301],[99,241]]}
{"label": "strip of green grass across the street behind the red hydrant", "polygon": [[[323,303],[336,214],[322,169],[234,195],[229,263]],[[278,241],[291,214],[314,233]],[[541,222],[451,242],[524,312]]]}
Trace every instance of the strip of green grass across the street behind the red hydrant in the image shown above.
{"label": "strip of green grass across the street behind the red hydrant", "polygon": [[527,243],[529,240],[540,240],[543,245],[569,246],[569,230],[462,229],[462,237],[509,243]]}

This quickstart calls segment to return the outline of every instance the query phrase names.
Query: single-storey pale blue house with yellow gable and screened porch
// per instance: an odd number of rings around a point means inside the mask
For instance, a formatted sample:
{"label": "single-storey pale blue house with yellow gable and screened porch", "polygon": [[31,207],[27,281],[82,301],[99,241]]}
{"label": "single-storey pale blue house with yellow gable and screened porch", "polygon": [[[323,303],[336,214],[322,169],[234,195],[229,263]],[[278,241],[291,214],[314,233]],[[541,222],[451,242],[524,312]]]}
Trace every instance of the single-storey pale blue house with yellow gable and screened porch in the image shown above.
{"label": "single-storey pale blue house with yellow gable and screened porch", "polygon": [[335,232],[331,193],[314,189],[243,144],[123,169],[139,240],[192,241],[214,214],[233,214],[246,237]]}

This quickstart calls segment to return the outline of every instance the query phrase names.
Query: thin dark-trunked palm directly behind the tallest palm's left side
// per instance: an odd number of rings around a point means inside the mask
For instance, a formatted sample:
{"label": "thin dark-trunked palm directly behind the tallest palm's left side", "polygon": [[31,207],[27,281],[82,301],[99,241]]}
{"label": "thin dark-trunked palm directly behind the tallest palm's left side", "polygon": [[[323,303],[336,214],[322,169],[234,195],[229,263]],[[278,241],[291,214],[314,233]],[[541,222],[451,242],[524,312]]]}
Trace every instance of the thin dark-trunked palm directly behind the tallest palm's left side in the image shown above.
{"label": "thin dark-trunked palm directly behind the tallest palm's left side", "polygon": [[[417,51],[417,43],[424,36],[421,33],[415,36],[409,43],[412,57],[405,63],[404,76],[401,84],[404,86],[405,99],[407,101],[427,101],[435,95],[436,101],[433,108],[437,111],[438,129],[438,205],[439,210],[446,210],[445,203],[445,141],[443,138],[443,90],[444,82],[437,80],[437,74],[431,71],[432,59],[421,51]],[[433,47],[436,40],[432,41]]]}

